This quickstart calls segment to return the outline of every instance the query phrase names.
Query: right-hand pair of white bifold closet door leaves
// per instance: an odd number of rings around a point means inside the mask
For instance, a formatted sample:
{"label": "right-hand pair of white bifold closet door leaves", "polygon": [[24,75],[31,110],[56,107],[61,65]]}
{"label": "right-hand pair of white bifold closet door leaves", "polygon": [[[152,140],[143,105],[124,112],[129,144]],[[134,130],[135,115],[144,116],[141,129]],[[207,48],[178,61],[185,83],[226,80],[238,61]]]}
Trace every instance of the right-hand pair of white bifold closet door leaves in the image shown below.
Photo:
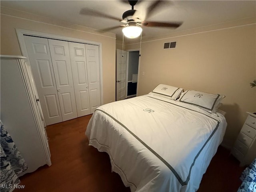
{"label": "right-hand pair of white bifold closet door leaves", "polygon": [[92,114],[100,106],[99,47],[68,42],[78,116]]}

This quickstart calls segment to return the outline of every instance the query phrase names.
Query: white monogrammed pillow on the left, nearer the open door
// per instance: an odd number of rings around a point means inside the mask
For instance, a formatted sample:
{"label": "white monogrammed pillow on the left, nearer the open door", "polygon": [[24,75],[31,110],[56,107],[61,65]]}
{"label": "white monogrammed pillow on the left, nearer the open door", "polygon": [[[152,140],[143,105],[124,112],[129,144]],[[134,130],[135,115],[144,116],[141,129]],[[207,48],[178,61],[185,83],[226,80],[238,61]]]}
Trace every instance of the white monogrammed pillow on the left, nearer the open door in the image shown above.
{"label": "white monogrammed pillow on the left, nearer the open door", "polygon": [[161,95],[164,98],[176,100],[184,90],[170,85],[159,84],[149,94]]}

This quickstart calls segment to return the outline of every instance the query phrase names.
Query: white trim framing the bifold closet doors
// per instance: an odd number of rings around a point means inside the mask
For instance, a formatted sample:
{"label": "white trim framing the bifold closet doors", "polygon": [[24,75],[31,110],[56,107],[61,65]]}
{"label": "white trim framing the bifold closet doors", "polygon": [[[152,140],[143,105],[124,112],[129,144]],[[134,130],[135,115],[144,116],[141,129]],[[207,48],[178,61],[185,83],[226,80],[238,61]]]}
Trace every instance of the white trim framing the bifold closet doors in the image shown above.
{"label": "white trim framing the bifold closet doors", "polygon": [[16,28],[16,34],[18,36],[18,42],[20,44],[20,50],[21,50],[22,56],[25,56],[26,58],[29,58],[29,57],[28,57],[28,51],[26,48],[26,43],[24,40],[24,35],[31,35],[31,36],[50,38],[50,39],[56,39],[56,40],[64,40],[64,41],[70,41],[70,42],[76,42],[76,43],[98,45],[99,46],[99,62],[100,62],[100,105],[103,104],[103,72],[102,72],[102,43],[101,42],[90,41],[90,40],[79,39],[79,38],[72,38],[72,37],[67,37],[62,35],[42,33],[37,31],[30,31],[25,29],[18,29],[18,28]]}

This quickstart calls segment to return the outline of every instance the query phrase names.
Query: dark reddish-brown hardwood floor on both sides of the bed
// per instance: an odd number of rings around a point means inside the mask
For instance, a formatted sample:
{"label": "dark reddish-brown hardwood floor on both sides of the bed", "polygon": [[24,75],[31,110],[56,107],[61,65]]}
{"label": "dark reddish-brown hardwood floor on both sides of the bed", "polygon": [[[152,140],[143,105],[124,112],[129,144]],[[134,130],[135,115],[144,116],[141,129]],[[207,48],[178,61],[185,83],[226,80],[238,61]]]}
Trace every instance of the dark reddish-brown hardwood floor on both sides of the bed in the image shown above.
{"label": "dark reddish-brown hardwood floor on both sides of the bed", "polygon": [[[52,166],[20,177],[27,192],[130,192],[111,172],[108,154],[88,146],[84,132],[91,115],[47,126]],[[198,192],[236,192],[244,170],[229,151],[219,147]]]}

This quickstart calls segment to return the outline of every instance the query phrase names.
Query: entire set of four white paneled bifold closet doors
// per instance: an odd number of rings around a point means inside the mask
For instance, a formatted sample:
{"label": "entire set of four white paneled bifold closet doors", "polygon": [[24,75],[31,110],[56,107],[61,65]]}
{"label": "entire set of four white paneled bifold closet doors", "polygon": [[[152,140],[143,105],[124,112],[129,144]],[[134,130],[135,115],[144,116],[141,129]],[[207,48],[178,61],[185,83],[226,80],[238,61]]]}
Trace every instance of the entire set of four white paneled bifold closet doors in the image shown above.
{"label": "entire set of four white paneled bifold closet doors", "polygon": [[24,35],[46,125],[101,105],[99,46]]}

